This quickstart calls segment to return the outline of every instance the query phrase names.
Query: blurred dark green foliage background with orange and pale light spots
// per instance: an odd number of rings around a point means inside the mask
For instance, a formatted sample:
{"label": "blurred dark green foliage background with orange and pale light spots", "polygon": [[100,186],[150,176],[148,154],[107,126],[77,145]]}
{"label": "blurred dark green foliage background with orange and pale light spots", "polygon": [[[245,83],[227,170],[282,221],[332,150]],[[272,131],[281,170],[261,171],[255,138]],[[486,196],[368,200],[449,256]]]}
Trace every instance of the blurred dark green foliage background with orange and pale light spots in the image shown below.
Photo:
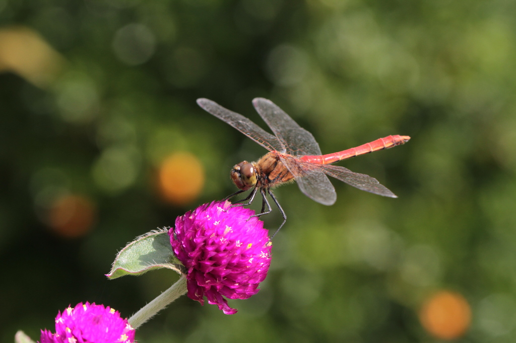
{"label": "blurred dark green foliage background with orange and pale light spots", "polygon": [[399,198],[278,188],[260,293],[234,316],[184,296],[139,341],[514,342],[515,57],[506,0],[0,0],[0,339],[168,288],[104,274],[266,152],[195,100],[265,127],[260,96],[323,153],[410,135],[340,163]]}

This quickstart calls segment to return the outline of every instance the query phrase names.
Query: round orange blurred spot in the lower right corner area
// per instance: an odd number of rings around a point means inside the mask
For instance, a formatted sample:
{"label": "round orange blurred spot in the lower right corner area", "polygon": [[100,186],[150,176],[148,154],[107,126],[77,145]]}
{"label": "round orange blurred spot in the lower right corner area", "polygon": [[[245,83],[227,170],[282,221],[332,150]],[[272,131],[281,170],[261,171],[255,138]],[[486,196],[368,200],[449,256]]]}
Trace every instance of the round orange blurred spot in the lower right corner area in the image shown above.
{"label": "round orange blurred spot in the lower right corner area", "polygon": [[442,290],[426,300],[420,311],[423,327],[441,339],[455,339],[470,327],[471,308],[458,293]]}

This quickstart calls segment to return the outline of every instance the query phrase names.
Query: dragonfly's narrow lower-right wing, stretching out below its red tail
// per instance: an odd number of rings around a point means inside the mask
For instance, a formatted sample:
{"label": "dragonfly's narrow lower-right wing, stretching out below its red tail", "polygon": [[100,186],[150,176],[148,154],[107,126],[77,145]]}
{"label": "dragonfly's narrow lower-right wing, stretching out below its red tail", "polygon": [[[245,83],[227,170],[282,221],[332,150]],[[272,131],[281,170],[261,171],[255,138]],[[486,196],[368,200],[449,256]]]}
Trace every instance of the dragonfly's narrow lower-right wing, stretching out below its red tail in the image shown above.
{"label": "dragonfly's narrow lower-right wing, stretching out below its red tail", "polygon": [[[305,164],[314,164],[314,163],[303,163]],[[323,170],[327,175],[334,177],[337,180],[341,180],[353,187],[357,187],[359,190],[366,191],[369,193],[374,193],[378,195],[382,195],[384,197],[397,198],[397,196],[392,193],[389,188],[382,185],[378,182],[377,179],[372,178],[365,174],[353,173],[351,170],[338,166],[338,165],[329,165],[329,164],[315,164],[319,169]]]}

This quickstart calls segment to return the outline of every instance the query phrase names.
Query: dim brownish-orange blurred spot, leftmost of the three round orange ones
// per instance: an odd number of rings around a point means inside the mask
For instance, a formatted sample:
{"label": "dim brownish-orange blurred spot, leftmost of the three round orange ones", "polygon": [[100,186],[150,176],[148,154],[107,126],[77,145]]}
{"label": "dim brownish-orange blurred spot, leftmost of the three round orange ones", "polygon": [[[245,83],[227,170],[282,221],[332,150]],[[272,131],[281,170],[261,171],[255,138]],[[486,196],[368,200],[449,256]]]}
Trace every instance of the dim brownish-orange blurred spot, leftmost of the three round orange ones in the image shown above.
{"label": "dim brownish-orange blurred spot, leftmost of the three round orange ones", "polygon": [[95,205],[80,195],[67,195],[56,199],[49,212],[49,226],[54,233],[65,238],[82,237],[90,231],[96,218]]}

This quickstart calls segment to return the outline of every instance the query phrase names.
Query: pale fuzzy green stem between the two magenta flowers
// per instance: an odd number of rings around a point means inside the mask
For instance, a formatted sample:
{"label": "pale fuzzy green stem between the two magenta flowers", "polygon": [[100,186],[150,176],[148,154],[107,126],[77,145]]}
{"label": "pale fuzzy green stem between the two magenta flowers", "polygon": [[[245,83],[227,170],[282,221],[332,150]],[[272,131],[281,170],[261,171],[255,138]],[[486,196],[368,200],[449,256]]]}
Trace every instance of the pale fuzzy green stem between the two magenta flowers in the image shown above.
{"label": "pale fuzzy green stem between the two magenta flowers", "polygon": [[157,296],[147,305],[140,308],[140,311],[132,315],[131,318],[128,319],[129,323],[134,329],[138,329],[141,324],[151,319],[152,316],[163,310],[163,308],[167,307],[168,304],[185,293],[186,278],[185,276],[182,276],[176,283],[170,286],[169,289]]}

